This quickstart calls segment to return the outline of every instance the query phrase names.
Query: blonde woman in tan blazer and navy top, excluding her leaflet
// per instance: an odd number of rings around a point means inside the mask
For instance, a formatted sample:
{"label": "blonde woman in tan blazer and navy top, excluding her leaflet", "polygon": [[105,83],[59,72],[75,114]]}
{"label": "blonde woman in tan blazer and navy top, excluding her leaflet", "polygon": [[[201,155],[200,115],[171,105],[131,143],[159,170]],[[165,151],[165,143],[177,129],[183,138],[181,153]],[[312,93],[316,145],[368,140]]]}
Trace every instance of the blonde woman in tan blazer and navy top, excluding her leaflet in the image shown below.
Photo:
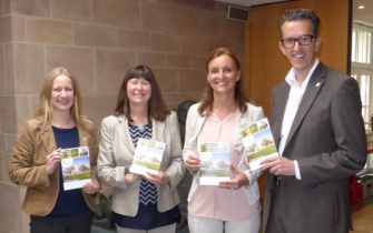
{"label": "blonde woman in tan blazer and navy top, excluding her leaflet", "polygon": [[[98,203],[97,139],[81,116],[77,78],[66,68],[51,70],[41,87],[33,119],[26,121],[9,163],[12,182],[28,186],[22,209],[31,233],[89,233]],[[91,182],[63,190],[61,149],[88,146]]]}

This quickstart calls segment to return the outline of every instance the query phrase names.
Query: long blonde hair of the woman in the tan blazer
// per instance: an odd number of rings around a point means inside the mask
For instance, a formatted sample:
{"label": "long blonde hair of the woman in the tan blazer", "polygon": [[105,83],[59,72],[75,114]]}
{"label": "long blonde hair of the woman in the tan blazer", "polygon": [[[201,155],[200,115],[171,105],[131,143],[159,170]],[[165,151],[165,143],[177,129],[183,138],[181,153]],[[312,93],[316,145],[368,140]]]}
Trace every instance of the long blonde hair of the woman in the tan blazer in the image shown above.
{"label": "long blonde hair of the woman in the tan blazer", "polygon": [[81,112],[81,97],[80,89],[77,81],[77,78],[66,68],[59,67],[55,68],[49,73],[47,73],[45,81],[41,85],[39,93],[39,99],[33,111],[33,118],[43,118],[45,123],[53,119],[53,108],[50,102],[51,92],[53,88],[53,81],[59,75],[67,75],[71,79],[72,89],[73,89],[73,103],[70,109],[70,114],[75,122],[79,124],[80,112]]}

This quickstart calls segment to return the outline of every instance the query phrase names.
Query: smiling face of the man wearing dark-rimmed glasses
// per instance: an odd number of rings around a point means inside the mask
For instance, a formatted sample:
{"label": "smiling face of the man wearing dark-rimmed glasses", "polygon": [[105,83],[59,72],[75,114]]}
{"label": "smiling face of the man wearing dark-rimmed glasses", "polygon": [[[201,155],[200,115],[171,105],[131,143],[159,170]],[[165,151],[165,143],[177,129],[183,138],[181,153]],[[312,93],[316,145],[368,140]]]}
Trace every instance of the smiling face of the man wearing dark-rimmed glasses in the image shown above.
{"label": "smiling face of the man wearing dark-rimmed glasses", "polygon": [[[312,30],[312,23],[310,20],[294,20],[285,21],[281,27],[283,39],[300,38],[305,34],[314,34]],[[297,78],[305,79],[311,70],[312,65],[316,60],[316,52],[320,49],[321,39],[314,38],[308,45],[301,45],[300,42],[295,42],[293,48],[285,48],[279,42],[279,49],[286,55],[295,69]]]}

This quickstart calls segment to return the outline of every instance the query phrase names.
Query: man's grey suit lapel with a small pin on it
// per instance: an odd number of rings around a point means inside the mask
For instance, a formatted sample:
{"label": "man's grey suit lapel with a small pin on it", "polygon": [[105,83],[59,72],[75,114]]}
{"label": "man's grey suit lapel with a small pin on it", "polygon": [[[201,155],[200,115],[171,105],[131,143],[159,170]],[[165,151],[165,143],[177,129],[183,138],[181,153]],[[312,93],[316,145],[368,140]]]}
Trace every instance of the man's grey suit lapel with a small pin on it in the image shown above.
{"label": "man's grey suit lapel with a small pin on it", "polygon": [[320,63],[308,81],[306,91],[302,98],[302,101],[295,114],[291,131],[288,133],[286,145],[294,136],[294,133],[296,132],[304,116],[307,114],[310,108],[312,107],[315,98],[317,97],[318,91],[321,90],[321,88],[323,87],[325,82],[325,79],[324,79],[325,75],[326,75],[326,67]]}

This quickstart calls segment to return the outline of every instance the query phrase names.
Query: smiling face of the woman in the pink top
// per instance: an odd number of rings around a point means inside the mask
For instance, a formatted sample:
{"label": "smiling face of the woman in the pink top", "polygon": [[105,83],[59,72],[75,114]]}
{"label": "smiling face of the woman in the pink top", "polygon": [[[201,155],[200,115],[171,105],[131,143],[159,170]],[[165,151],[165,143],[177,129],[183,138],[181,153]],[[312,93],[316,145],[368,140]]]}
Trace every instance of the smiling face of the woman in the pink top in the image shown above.
{"label": "smiling face of the woman in the pink top", "polygon": [[236,82],[241,78],[235,61],[227,54],[212,59],[208,62],[207,80],[214,90],[214,94],[234,94]]}

